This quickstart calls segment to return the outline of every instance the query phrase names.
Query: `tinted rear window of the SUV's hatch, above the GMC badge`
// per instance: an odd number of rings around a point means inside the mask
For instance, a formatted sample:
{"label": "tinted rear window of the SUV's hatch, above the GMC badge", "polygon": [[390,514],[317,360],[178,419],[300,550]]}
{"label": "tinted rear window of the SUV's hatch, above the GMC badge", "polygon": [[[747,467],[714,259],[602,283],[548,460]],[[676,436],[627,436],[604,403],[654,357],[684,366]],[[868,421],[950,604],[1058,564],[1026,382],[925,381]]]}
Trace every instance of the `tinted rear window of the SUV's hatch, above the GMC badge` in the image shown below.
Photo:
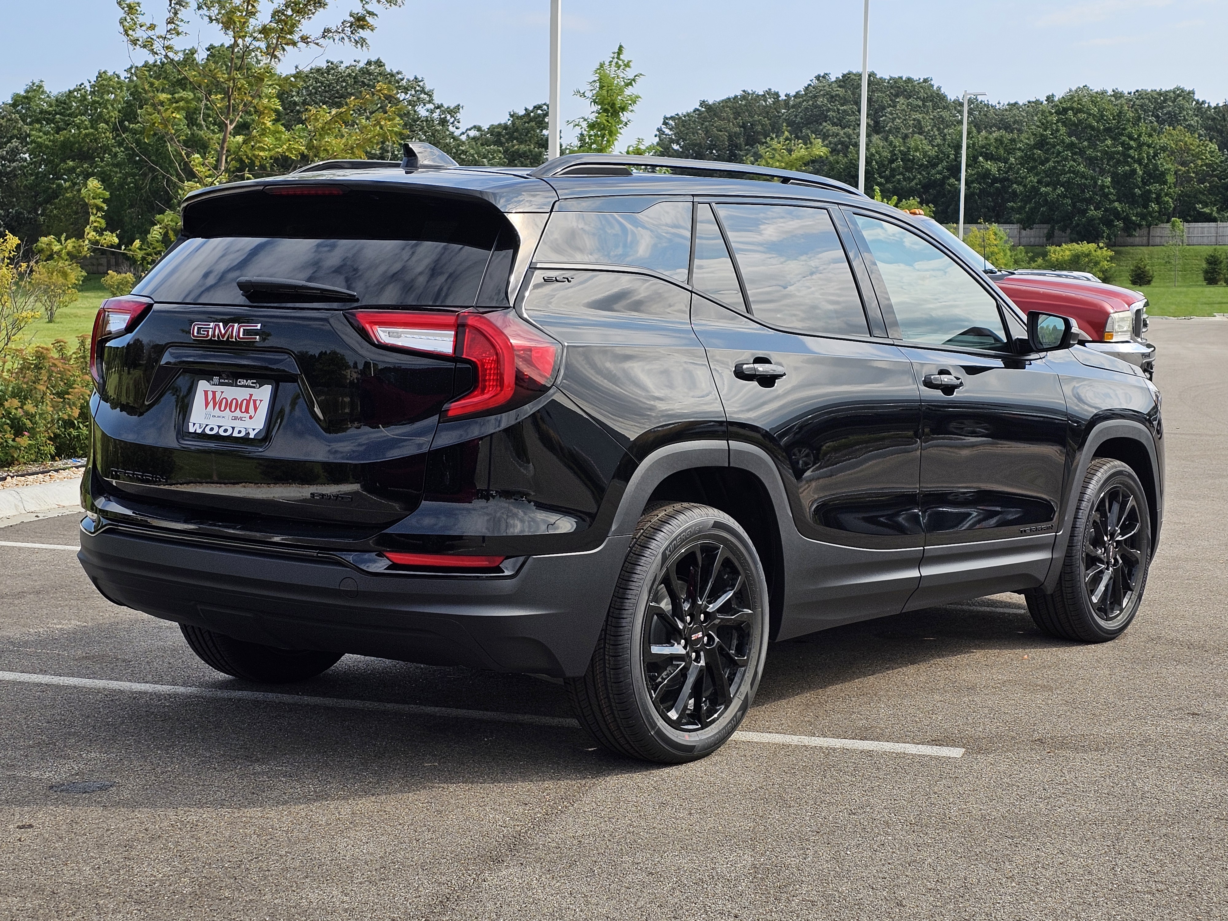
{"label": "tinted rear window of the SUV's hatch, above the GMC badge", "polygon": [[236,282],[254,276],[343,287],[362,305],[502,306],[515,241],[497,210],[463,200],[219,195],[188,206],[184,237],[135,293],[247,306]]}

